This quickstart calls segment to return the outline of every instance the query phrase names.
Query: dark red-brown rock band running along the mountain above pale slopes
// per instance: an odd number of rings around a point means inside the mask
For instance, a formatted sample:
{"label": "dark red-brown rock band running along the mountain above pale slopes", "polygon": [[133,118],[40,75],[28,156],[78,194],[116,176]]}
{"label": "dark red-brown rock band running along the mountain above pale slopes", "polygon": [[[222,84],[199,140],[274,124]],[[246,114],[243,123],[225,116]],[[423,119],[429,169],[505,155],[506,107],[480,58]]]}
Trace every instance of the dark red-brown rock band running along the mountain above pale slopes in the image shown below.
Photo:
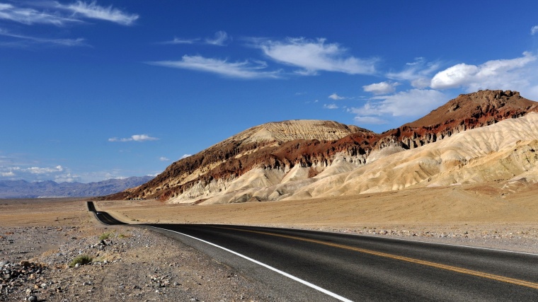
{"label": "dark red-brown rock band running along the mountain above pale slopes", "polygon": [[[425,117],[382,134],[358,129],[357,132],[334,141],[297,139],[285,142],[246,142],[246,139],[227,139],[194,156],[176,161],[144,185],[106,198],[156,197],[166,200],[193,185],[208,184],[212,180],[233,179],[252,168],[328,166],[336,153],[355,156],[357,161],[365,163],[373,149],[383,149],[391,145],[412,149],[467,129],[487,126],[536,111],[538,103],[522,98],[520,93],[515,91],[479,91],[459,95]],[[313,169],[310,174],[313,177],[316,171]]]}

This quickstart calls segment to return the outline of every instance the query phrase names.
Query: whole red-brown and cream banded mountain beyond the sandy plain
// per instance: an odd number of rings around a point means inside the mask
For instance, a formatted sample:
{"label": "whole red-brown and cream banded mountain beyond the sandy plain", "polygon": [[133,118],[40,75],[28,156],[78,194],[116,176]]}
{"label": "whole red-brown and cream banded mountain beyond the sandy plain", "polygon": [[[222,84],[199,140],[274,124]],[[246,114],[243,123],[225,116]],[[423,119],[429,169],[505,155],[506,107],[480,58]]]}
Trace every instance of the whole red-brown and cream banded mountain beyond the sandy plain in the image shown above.
{"label": "whole red-brown and cream banded mountain beyond the sandy plain", "polygon": [[[523,148],[532,158],[538,136],[530,126],[537,115],[527,114],[536,111],[538,103],[515,91],[478,91],[382,134],[329,121],[263,124],[108,198],[217,204],[509,179],[532,168],[532,160],[520,162],[525,157],[510,150]],[[476,165],[481,161],[483,166]],[[490,165],[500,169],[503,161],[519,168],[508,169],[511,175],[506,169],[473,174]]]}

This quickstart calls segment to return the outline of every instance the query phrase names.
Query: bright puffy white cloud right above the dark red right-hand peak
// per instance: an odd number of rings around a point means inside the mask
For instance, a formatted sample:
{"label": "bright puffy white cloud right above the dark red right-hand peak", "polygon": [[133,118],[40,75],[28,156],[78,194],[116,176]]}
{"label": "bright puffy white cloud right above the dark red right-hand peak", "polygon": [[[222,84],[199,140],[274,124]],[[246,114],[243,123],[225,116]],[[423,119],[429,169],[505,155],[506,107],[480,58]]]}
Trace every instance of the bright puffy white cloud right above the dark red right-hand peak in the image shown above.
{"label": "bright puffy white cloud right above the dark red right-hand peak", "polygon": [[[537,85],[537,57],[524,52],[515,59],[498,59],[479,66],[457,64],[433,76],[431,88],[464,87],[467,91],[480,89],[508,89],[524,92]],[[534,64],[532,64],[534,63]]]}

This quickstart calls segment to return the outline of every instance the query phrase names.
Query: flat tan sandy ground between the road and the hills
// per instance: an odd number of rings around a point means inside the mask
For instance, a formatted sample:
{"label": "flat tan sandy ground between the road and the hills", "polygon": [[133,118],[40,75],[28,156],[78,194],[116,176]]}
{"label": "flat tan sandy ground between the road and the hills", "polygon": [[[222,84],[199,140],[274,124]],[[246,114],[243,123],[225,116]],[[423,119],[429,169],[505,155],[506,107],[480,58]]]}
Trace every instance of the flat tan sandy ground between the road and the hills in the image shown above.
{"label": "flat tan sandy ground between the road and the hills", "polygon": [[538,253],[538,185],[457,185],[280,202],[97,202],[130,223],[309,228]]}

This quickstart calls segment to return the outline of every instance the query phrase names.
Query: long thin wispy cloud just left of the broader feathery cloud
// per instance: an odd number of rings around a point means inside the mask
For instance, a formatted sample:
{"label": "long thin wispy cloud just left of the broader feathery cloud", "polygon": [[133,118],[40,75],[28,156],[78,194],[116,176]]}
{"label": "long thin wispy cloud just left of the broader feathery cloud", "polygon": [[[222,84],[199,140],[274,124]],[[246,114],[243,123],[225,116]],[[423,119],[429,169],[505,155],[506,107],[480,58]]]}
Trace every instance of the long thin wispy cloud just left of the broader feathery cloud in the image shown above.
{"label": "long thin wispy cloud just left of the broader feathery cloud", "polygon": [[221,76],[239,79],[260,79],[260,78],[278,78],[279,71],[262,71],[267,67],[265,62],[249,61],[244,62],[227,62],[222,59],[212,59],[200,56],[185,55],[181,61],[159,61],[148,62],[147,64],[165,66],[178,69],[190,69],[196,71],[205,71]]}

